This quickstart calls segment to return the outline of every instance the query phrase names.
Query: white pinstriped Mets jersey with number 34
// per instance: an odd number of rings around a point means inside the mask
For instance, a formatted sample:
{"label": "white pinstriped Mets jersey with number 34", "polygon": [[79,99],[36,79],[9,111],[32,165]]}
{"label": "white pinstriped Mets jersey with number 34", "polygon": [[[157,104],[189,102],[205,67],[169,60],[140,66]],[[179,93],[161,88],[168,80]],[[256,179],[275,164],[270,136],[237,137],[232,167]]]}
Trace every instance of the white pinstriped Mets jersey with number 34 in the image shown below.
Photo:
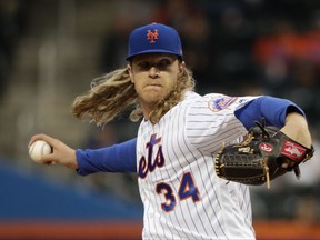
{"label": "white pinstriped Mets jersey with number 34", "polygon": [[253,97],[186,99],[138,131],[143,239],[254,239],[249,188],[216,176],[214,153],[247,130],[234,110]]}

